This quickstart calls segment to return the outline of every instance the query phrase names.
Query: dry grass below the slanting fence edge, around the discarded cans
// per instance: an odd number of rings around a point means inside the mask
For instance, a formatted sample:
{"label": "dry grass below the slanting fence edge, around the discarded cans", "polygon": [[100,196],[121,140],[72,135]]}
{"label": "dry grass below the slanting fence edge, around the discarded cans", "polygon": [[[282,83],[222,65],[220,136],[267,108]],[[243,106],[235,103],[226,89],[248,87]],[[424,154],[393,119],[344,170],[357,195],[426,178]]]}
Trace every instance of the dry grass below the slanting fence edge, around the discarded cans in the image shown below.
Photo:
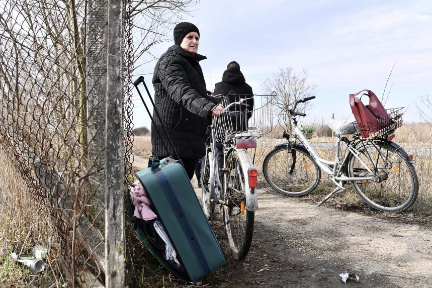
{"label": "dry grass below the slanting fence edge, around the discarded cans", "polygon": [[[57,263],[46,265],[45,271],[33,274],[14,261],[11,252],[30,253],[35,245],[55,245],[49,215],[42,212],[41,200],[30,193],[20,172],[14,165],[9,152],[0,145],[0,286],[2,287],[49,287],[54,283],[61,286],[63,281],[53,276],[59,271]],[[56,272],[55,274],[58,274]]]}

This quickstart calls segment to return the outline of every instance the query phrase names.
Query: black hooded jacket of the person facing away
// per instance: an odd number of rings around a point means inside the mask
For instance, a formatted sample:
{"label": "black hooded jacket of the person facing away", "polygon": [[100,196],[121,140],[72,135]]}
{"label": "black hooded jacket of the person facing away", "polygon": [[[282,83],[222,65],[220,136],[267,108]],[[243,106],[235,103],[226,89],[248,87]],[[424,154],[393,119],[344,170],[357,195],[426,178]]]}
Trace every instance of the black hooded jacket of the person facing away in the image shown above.
{"label": "black hooded jacket of the person facing away", "polygon": [[[231,95],[230,95],[231,93]],[[235,94],[243,94],[243,95],[233,95]],[[213,95],[228,95],[228,101],[224,102],[224,106],[226,106],[229,103],[237,102],[240,100],[240,98],[248,98],[244,94],[250,94],[249,97],[253,95],[252,87],[250,87],[243,76],[243,73],[241,73],[240,70],[237,69],[227,69],[223,72],[222,75],[222,82],[218,82],[215,85],[215,89],[213,91]],[[249,105],[247,108],[248,111],[253,110],[253,98],[250,100],[246,100],[245,103]],[[240,107],[231,107],[230,111],[244,111],[245,108]],[[251,116],[251,113],[248,113],[248,118]]]}

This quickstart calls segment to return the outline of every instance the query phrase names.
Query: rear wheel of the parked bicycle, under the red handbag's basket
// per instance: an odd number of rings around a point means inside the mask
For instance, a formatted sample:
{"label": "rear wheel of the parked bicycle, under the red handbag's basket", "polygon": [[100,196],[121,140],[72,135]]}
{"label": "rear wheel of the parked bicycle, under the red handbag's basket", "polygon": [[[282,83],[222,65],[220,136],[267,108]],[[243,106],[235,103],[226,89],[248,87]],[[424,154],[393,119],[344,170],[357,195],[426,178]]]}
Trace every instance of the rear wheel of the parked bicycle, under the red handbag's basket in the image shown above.
{"label": "rear wheel of the parked bicycle, under the red handbag's basket", "polygon": [[[372,208],[384,212],[401,212],[408,209],[418,195],[418,178],[414,166],[402,153],[379,140],[364,140],[356,145],[359,157],[378,181],[352,181],[359,196]],[[350,177],[370,176],[354,154],[348,161]]]}

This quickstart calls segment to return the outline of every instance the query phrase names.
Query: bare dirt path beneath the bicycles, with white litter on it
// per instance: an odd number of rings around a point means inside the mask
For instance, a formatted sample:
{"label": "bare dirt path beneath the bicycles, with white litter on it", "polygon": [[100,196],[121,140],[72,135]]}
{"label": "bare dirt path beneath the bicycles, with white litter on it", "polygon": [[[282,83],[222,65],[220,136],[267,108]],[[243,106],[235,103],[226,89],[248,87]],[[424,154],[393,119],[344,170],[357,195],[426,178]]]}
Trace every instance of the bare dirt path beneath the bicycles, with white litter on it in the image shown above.
{"label": "bare dirt path beneath the bicycles, with white litter on it", "polygon": [[[135,156],[134,168],[147,160]],[[194,187],[196,179],[192,181]],[[196,188],[197,195],[201,190]],[[258,211],[247,258],[197,285],[206,287],[432,287],[432,225],[403,224],[258,192]],[[213,230],[226,249],[222,215]],[[225,251],[229,255],[228,251]],[[343,283],[354,272],[360,282]]]}

